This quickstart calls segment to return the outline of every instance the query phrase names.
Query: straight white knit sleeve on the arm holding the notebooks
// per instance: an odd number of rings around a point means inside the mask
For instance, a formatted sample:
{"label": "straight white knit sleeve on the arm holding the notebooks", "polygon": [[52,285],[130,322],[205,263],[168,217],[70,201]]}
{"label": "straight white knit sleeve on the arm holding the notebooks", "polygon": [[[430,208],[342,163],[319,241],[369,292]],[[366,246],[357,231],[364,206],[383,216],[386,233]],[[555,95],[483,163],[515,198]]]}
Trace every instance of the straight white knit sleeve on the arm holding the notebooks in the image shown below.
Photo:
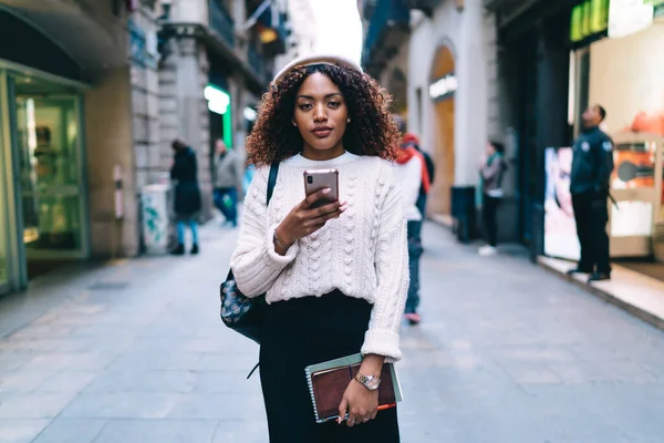
{"label": "straight white knit sleeve on the arm holding the notebooks", "polygon": [[363,354],[401,359],[400,328],[408,292],[408,247],[401,186],[388,172],[381,208],[374,265],[377,289],[364,337]]}

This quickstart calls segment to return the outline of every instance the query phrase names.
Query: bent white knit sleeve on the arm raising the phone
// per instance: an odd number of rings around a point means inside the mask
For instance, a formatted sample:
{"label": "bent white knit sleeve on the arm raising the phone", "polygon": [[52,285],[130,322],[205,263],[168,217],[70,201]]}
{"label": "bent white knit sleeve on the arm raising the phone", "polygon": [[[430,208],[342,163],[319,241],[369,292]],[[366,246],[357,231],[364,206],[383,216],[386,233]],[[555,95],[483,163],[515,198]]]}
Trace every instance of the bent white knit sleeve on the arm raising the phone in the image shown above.
{"label": "bent white knit sleeve on the arm raising the phone", "polygon": [[297,241],[288,249],[286,256],[280,256],[274,250],[273,236],[278,225],[270,225],[268,220],[269,169],[258,169],[251,181],[238,244],[230,259],[238,288],[247,297],[267,292],[298,254]]}

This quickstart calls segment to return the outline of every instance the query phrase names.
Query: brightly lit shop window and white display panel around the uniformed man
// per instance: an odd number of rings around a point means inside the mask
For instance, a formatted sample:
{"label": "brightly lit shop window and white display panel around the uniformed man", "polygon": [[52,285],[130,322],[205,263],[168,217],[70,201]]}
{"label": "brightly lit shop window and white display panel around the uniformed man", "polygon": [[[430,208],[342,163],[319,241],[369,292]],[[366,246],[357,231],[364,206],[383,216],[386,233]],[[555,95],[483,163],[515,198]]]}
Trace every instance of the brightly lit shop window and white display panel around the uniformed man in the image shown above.
{"label": "brightly lit shop window and white display panel around the uniformed man", "polygon": [[[620,9],[621,2],[605,7]],[[630,11],[639,12],[635,8]],[[578,37],[570,56],[568,117],[578,135],[588,105],[606,111],[600,127],[613,140],[606,146],[614,163],[609,183],[613,202],[608,202],[611,258],[664,280],[664,18],[653,14],[652,4],[643,8],[647,20],[639,28],[602,14],[595,34]],[[558,146],[549,154],[544,253],[578,260],[569,194],[572,152]]]}

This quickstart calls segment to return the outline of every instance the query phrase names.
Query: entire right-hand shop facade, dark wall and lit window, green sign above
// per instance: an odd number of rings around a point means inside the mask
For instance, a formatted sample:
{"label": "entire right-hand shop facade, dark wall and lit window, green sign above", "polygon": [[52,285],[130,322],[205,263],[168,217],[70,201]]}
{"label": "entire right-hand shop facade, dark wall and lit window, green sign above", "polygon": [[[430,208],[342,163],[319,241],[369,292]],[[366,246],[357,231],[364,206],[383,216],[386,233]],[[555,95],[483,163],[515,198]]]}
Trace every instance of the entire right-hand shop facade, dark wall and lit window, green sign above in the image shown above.
{"label": "entire right-hand shop facade, dark wall and lit window, green sign above", "polygon": [[531,258],[579,258],[570,146],[583,110],[600,104],[614,141],[611,256],[664,260],[664,83],[655,74],[664,2],[488,3],[504,48],[501,120],[518,136],[520,233]]}

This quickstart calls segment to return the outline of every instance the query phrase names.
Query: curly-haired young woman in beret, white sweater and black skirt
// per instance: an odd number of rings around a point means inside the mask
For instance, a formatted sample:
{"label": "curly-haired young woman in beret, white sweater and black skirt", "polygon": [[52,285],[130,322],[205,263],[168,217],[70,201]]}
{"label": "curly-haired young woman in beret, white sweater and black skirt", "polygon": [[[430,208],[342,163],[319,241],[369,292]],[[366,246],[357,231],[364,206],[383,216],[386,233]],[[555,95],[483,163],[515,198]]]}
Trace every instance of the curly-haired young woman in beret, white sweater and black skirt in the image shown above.
{"label": "curly-haired young woman in beret, white sweater and black skirt", "polygon": [[[258,171],[231,268],[246,296],[267,292],[260,377],[272,443],[400,441],[396,409],[377,412],[377,391],[355,380],[339,405],[347,421],[317,424],[304,377],[357,352],[360,373],[380,377],[401,358],[408,253],[390,103],[355,63],[301,59],[277,75],[248,138]],[[313,208],[329,193],[305,196],[303,173],[317,168],[339,171],[340,202]]]}

